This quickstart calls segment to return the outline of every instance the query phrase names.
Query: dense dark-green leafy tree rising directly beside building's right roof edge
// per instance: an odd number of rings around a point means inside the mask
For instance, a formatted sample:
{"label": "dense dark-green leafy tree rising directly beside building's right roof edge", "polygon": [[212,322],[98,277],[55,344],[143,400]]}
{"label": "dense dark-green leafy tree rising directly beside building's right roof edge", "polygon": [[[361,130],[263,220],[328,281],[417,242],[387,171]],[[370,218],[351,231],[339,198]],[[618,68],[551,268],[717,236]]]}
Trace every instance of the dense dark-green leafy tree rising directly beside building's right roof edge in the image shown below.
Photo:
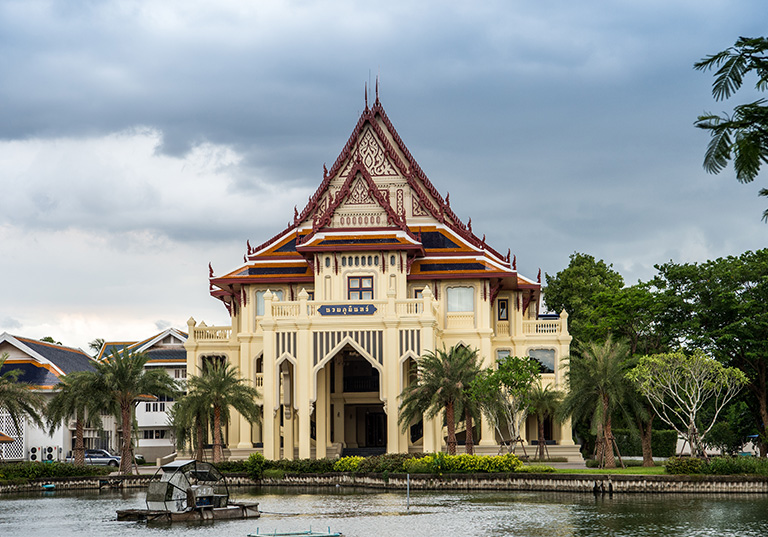
{"label": "dense dark-green leafy tree rising directly beside building's right roof edge", "polygon": [[597,311],[598,296],[624,287],[624,278],[602,259],[573,253],[568,267],[555,276],[545,274],[544,302],[552,311],[568,312],[569,331],[580,343],[605,339]]}

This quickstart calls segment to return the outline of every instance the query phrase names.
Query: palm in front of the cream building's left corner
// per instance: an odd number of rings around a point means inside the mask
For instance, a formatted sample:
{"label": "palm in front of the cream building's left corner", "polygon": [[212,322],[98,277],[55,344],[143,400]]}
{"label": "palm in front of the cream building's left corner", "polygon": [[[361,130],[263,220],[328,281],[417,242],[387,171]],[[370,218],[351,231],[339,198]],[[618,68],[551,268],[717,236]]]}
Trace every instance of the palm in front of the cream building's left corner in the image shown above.
{"label": "palm in front of the cream building's left corner", "polygon": [[[224,361],[212,361],[204,365],[202,374],[187,381],[189,394],[187,397],[200,398],[205,401],[213,413],[213,462],[224,459],[221,439],[222,423],[229,422],[229,409],[234,408],[251,423],[261,420],[261,407],[256,400],[261,397],[259,391],[247,384],[232,365]],[[194,399],[193,399],[194,401]],[[190,404],[199,406],[200,401]],[[198,434],[198,438],[200,438]]]}

